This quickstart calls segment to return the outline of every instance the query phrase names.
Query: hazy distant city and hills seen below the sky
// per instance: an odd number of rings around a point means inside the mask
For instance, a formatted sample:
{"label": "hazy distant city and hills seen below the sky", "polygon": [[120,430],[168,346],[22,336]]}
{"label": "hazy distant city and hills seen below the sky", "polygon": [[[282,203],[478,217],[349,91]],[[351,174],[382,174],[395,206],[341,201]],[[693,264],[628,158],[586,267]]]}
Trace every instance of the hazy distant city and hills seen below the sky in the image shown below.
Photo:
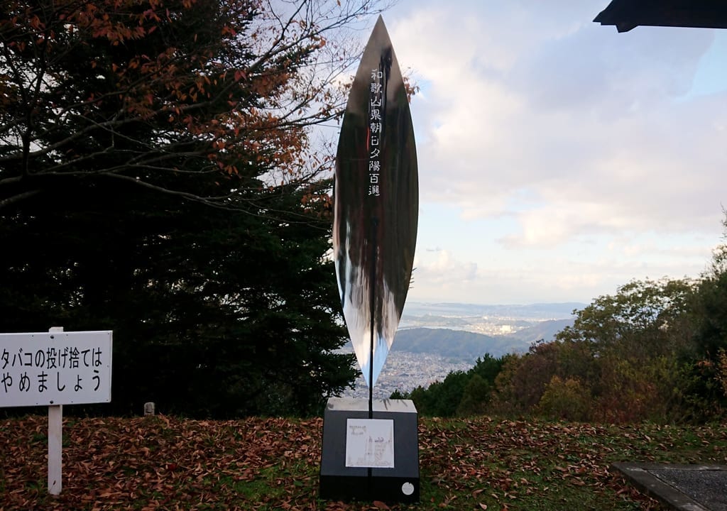
{"label": "hazy distant city and hills seen below the sky", "polygon": [[[573,323],[577,302],[533,305],[471,305],[407,302],[392,350],[374,386],[374,398],[395,390],[410,392],[442,381],[452,371],[467,371],[489,353],[525,353],[539,339],[552,340]],[[350,343],[342,350],[351,353]],[[363,377],[343,395],[367,398]]]}

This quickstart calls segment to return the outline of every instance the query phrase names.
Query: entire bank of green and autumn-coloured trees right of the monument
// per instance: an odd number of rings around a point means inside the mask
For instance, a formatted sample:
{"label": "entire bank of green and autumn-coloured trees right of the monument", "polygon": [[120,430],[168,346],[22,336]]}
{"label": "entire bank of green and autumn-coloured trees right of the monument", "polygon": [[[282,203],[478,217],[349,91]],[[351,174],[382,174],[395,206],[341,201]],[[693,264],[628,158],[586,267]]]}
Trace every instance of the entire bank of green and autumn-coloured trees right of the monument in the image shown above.
{"label": "entire bank of green and autumn-coloured trees right of the monument", "polygon": [[499,359],[488,355],[466,373],[398,397],[442,417],[491,414],[601,424],[723,420],[726,254],[718,246],[699,279],[627,283],[574,311],[574,324],[550,342]]}

